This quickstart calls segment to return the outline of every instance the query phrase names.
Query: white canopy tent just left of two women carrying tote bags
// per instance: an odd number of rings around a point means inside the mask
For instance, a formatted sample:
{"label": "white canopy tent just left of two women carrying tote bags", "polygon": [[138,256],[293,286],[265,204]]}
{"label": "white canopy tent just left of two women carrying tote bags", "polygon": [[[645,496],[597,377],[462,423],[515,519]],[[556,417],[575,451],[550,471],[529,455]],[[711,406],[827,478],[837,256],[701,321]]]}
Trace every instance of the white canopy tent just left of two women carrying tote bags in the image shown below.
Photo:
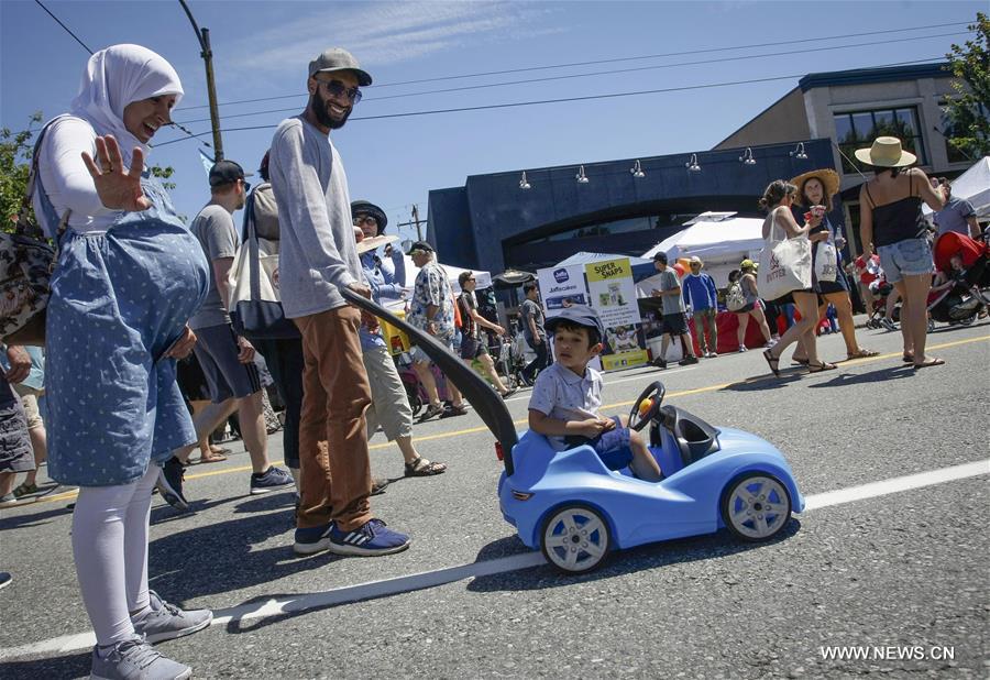
{"label": "white canopy tent just left of two women carrying tote bags", "polygon": [[735,217],[735,212],[703,212],[685,222],[688,229],[679,231],[645,252],[651,260],[663,252],[671,264],[681,257],[698,256],[703,271],[715,279],[719,288],[728,285],[728,274],[739,268],[749,257],[756,260],[763,249],[763,220]]}

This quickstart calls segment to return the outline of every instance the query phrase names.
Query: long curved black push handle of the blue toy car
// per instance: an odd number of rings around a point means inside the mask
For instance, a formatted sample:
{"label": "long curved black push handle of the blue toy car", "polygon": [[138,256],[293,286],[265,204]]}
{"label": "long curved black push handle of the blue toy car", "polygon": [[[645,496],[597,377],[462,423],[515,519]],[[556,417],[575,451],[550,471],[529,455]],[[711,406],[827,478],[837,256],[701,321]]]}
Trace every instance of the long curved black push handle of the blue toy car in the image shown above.
{"label": "long curved black push handle of the blue toy car", "polygon": [[495,438],[502,445],[505,457],[505,472],[512,475],[514,472],[513,447],[518,441],[516,426],[502,397],[488,386],[488,383],[468,364],[454,357],[447,349],[446,344],[441,344],[428,332],[409,325],[405,319],[399,319],[377,303],[350,288],[342,287],[339,290],[345,300],[359,309],[388,321],[392,326],[408,333],[409,338],[413,339],[413,343],[419,346],[427,353],[443,372],[443,375],[458,386],[464,398],[471,403],[471,406],[474,407],[474,410],[477,412],[477,415],[481,416],[487,428],[495,435]]}

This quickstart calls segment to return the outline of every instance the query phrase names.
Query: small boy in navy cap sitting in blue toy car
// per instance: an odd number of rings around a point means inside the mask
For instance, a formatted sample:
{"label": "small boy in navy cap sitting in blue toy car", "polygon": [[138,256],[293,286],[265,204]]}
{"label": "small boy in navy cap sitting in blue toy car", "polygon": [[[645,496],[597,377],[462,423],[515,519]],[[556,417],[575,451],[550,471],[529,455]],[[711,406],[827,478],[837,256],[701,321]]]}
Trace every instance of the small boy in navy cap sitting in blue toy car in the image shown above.
{"label": "small boy in navy cap sitting in blue toy car", "polygon": [[627,418],[598,415],[602,374],[587,365],[602,351],[605,329],[591,307],[574,305],[547,319],[557,361],[540,372],[529,398],[529,428],[558,451],[587,443],[605,467],[630,467],[641,480],[659,482],[660,465]]}

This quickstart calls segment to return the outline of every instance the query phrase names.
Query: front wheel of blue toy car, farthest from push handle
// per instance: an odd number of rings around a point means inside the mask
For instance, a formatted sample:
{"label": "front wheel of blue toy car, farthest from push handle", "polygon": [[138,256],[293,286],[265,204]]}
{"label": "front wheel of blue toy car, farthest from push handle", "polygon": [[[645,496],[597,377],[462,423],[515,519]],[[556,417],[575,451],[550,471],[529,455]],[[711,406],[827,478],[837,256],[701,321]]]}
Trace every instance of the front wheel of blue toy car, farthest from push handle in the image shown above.
{"label": "front wheel of blue toy car, farthest from push handle", "polygon": [[769,540],[791,520],[791,496],[772,474],[744,474],[726,487],[722,518],[728,530],[743,540]]}

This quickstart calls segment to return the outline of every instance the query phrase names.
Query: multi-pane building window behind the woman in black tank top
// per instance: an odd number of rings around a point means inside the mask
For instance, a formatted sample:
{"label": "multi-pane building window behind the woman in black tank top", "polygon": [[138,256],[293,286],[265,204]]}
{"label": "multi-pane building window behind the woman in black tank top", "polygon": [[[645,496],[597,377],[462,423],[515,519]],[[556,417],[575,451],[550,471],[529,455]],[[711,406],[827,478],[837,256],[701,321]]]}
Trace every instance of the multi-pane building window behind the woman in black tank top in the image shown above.
{"label": "multi-pane building window behind the woman in black tank top", "polygon": [[868,167],[857,162],[853,152],[869,146],[875,139],[884,135],[900,139],[904,151],[917,156],[919,165],[928,162],[915,107],[849,111],[835,113],[834,119],[835,136],[844,154],[843,172],[846,174],[866,172]]}

